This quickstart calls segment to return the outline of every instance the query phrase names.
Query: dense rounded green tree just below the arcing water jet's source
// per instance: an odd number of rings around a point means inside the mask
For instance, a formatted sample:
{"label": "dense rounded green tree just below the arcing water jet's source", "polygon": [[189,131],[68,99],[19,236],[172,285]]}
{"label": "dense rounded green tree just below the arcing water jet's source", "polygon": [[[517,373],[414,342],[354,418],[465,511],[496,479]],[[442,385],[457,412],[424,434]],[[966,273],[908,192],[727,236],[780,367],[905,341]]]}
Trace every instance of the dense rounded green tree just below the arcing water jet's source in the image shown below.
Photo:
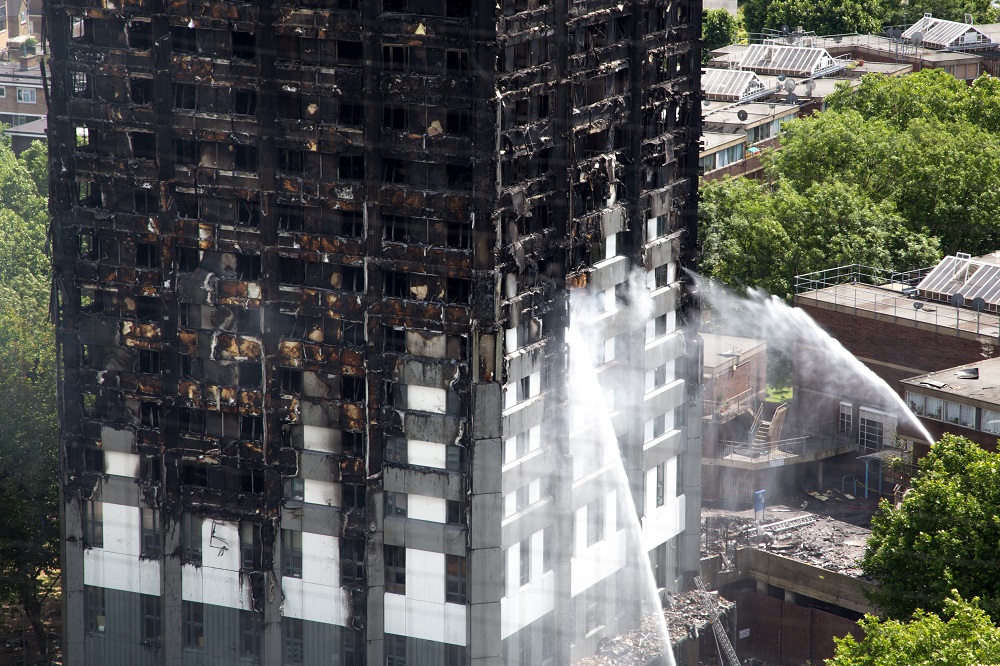
{"label": "dense rounded green tree just below the arcing water jet's source", "polygon": [[945,610],[957,590],[1000,617],[998,562],[1000,454],[944,435],[920,460],[900,507],[883,501],[872,519],[861,560],[878,582],[872,602],[905,620],[918,608]]}

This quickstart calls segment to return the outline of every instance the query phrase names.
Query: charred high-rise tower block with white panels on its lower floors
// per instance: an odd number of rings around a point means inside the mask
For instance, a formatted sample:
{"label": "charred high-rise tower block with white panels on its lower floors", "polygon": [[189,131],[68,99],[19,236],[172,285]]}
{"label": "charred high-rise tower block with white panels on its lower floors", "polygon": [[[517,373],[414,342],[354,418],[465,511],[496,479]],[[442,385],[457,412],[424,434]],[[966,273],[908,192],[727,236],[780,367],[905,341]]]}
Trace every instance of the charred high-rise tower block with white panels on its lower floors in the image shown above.
{"label": "charred high-rise tower block with white panels on its lower floors", "polygon": [[612,418],[657,585],[697,571],[700,3],[46,11],[66,664],[566,664],[628,628],[610,468],[567,471],[571,292],[645,379]]}

